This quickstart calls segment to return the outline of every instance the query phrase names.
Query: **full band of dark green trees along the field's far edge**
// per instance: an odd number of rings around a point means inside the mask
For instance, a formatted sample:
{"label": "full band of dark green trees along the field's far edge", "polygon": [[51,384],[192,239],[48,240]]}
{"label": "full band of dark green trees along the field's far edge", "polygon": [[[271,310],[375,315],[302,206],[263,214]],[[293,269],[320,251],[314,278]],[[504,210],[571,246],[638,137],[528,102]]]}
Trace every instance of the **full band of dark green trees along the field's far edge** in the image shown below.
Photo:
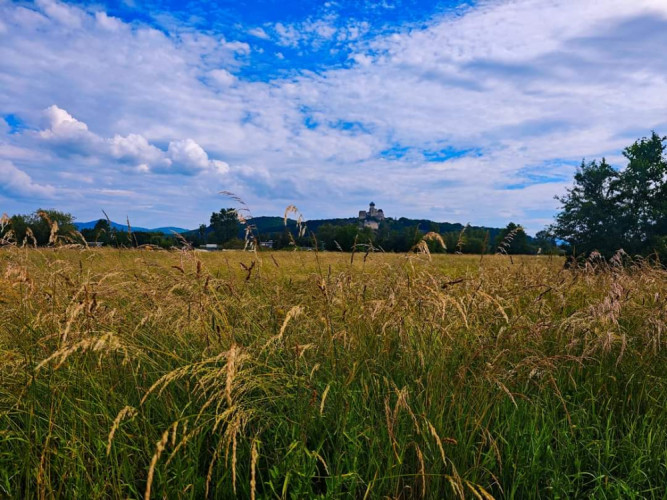
{"label": "full band of dark green trees along the field's far edge", "polygon": [[[282,227],[269,224],[266,230],[241,223],[233,208],[213,212],[209,224],[185,233],[180,241],[193,246],[216,244],[223,248],[244,248],[248,237],[255,244],[272,241],[275,250],[315,248],[352,251],[372,248],[386,252],[409,252],[428,233],[432,253],[561,253],[588,256],[599,252],[611,257],[619,250],[630,255],[653,255],[667,261],[667,137],[652,132],[623,150],[624,169],[616,169],[602,160],[582,160],[574,175],[573,186],[556,197],[561,209],[553,224],[528,236],[513,222],[505,228],[480,228],[460,224],[387,218],[377,230],[360,227],[356,219],[314,221],[308,231],[296,230],[288,220]],[[3,216],[0,223],[2,242],[45,246],[58,243],[93,243],[134,247],[155,245],[169,248],[179,238],[159,232],[117,230],[107,219],[100,219],[92,229],[76,230],[74,217],[58,210],[37,210],[32,214]],[[443,244],[440,242],[442,241]]]}

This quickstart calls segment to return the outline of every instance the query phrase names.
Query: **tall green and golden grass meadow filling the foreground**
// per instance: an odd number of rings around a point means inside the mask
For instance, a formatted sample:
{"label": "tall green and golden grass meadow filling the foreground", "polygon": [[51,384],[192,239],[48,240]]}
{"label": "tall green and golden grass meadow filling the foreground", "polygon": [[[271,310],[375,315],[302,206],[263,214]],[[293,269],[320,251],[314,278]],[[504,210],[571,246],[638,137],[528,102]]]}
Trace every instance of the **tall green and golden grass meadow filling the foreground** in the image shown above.
{"label": "tall green and golden grass meadow filling the foreground", "polygon": [[0,251],[0,497],[667,498],[667,272]]}

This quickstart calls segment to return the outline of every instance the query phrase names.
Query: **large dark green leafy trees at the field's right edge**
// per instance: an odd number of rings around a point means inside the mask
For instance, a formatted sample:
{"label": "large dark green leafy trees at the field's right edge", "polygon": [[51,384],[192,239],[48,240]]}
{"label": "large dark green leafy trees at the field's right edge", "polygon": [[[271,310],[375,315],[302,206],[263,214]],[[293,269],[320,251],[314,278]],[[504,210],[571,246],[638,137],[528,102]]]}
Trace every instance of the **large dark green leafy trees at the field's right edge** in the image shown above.
{"label": "large dark green leafy trees at the field's right edge", "polygon": [[558,198],[562,211],[551,233],[572,252],[610,257],[657,254],[667,260],[667,137],[655,132],[623,151],[628,160],[617,171],[603,158],[581,167],[574,187]]}

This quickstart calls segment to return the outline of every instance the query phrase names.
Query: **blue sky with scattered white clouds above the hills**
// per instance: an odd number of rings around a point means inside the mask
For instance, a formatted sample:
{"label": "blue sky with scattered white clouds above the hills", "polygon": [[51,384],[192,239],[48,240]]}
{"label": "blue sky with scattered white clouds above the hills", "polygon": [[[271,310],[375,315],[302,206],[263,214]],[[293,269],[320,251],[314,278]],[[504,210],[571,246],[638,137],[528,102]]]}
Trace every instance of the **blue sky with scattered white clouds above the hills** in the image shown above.
{"label": "blue sky with scattered white clouds above the hills", "polygon": [[0,0],[0,212],[529,233],[667,134],[667,0]]}

